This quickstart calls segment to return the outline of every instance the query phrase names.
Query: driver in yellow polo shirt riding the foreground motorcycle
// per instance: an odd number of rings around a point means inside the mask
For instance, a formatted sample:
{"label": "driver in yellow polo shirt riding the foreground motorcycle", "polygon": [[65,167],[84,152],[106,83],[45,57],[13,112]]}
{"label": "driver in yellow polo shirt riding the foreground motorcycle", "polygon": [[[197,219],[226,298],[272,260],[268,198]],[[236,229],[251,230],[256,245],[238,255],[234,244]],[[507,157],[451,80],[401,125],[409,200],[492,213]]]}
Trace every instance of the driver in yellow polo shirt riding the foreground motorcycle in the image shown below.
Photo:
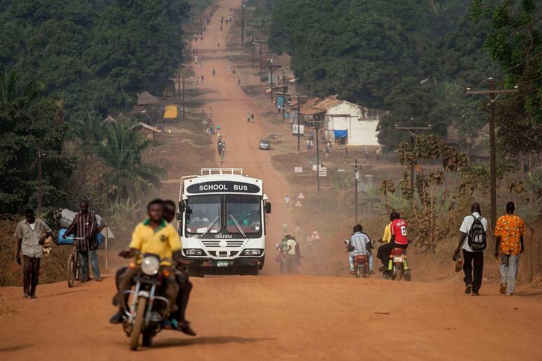
{"label": "driver in yellow polo shirt riding the foreground motorcycle", "polygon": [[[163,201],[155,199],[147,206],[148,218],[139,223],[132,233],[130,249],[119,253],[121,257],[134,257],[138,251],[141,254],[151,253],[158,255],[162,262],[162,268],[171,267],[172,263],[165,258],[181,260],[181,239],[176,230],[169,225],[163,218]],[[139,260],[138,260],[139,262]],[[119,305],[119,311],[110,320],[111,323],[120,323],[124,313],[124,291],[132,287],[132,278],[139,271],[138,268],[127,268],[120,276],[118,284],[118,293],[115,297],[115,304]],[[169,276],[166,278],[165,297],[169,300],[169,311],[176,311],[176,297],[179,293],[179,283],[176,281],[174,270],[170,269]]]}

